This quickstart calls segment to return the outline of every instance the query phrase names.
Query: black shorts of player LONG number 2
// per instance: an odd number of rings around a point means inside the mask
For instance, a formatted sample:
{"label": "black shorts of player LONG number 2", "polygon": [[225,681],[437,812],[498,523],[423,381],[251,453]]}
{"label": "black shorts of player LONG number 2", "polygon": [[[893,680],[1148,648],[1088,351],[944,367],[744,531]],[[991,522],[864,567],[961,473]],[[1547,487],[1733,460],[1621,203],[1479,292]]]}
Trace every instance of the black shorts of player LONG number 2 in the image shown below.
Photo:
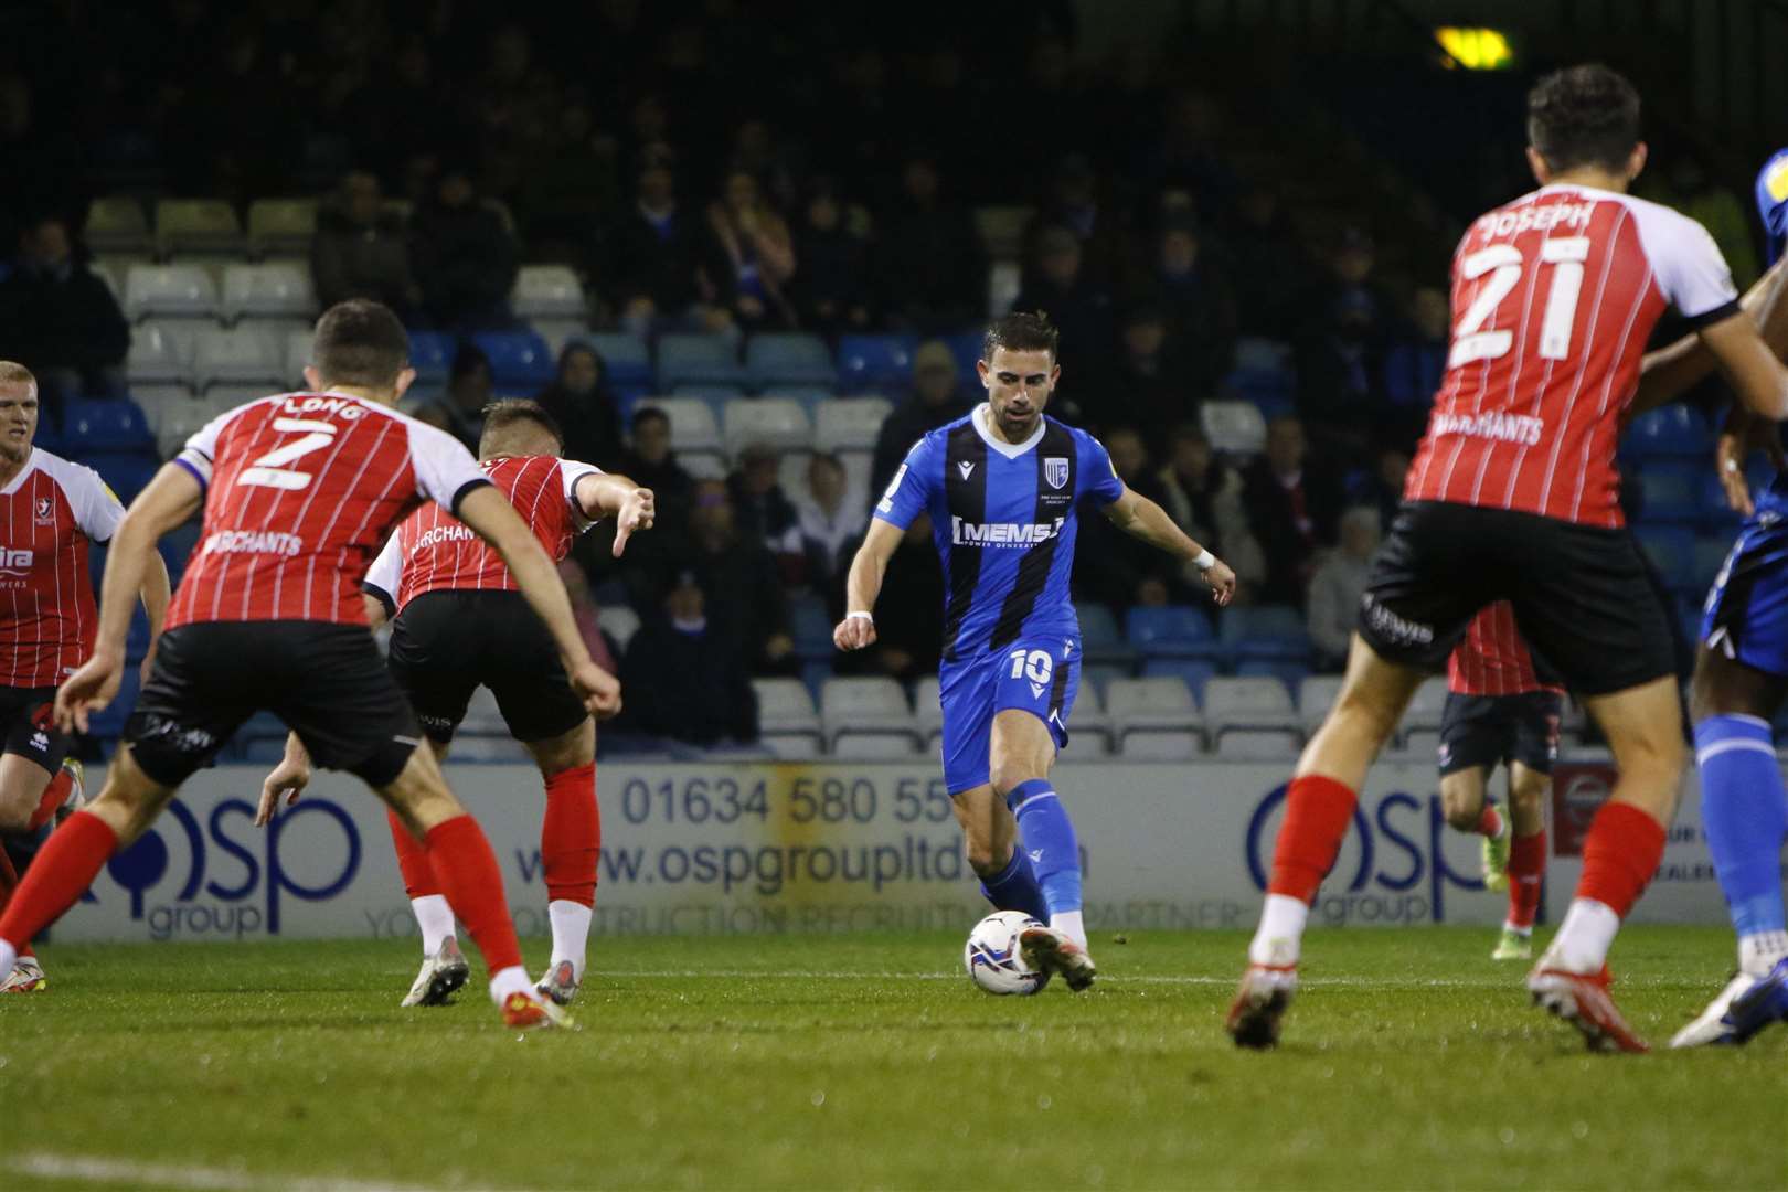
{"label": "black shorts of player LONG number 2", "polygon": [[422,743],[372,633],[316,620],[213,620],[161,634],[123,738],[148,777],[179,786],[257,711],[284,720],[316,765],[372,786],[388,786]]}

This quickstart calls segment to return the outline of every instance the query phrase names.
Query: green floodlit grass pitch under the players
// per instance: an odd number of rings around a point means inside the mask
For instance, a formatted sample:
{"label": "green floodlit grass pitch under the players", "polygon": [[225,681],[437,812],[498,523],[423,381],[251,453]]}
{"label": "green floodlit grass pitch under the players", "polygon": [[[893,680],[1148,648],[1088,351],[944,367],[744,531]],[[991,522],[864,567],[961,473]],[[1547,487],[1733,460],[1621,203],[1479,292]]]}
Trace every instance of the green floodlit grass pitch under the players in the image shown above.
{"label": "green floodlit grass pitch under the players", "polygon": [[[73,1187],[20,1153],[254,1188],[1788,1187],[1788,1029],[1590,1056],[1491,944],[1314,933],[1271,1054],[1221,1031],[1234,933],[1094,936],[1100,988],[1032,999],[935,935],[599,940],[583,1029],[526,1038],[472,988],[399,1010],[413,945],[63,945],[0,999],[0,1187]],[[1729,958],[1631,929],[1616,997],[1661,1047]]]}

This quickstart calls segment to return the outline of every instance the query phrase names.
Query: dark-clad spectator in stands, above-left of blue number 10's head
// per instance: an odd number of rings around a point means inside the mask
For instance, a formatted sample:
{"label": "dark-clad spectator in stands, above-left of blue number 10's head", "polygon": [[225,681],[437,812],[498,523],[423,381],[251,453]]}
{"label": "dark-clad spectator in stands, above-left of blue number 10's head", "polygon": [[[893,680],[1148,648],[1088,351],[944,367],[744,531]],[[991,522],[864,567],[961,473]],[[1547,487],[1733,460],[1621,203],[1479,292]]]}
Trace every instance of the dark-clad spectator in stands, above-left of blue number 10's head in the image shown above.
{"label": "dark-clad spectator in stands, above-left of blue number 10's head", "polygon": [[948,334],[987,311],[987,259],[974,216],[946,202],[932,157],[901,170],[901,189],[881,213],[876,298],[898,329]]}

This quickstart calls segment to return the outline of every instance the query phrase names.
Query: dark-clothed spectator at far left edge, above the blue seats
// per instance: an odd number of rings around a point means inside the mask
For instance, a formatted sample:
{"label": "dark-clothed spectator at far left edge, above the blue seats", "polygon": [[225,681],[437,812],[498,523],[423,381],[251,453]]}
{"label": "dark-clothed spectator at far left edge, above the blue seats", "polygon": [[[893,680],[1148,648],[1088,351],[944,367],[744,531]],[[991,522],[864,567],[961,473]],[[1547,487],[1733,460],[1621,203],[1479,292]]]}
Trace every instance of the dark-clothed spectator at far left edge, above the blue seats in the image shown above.
{"label": "dark-clothed spectator at far left edge, above the blue seats", "polygon": [[105,282],[75,257],[68,223],[30,223],[0,279],[0,357],[38,375],[38,395],[61,422],[68,399],[123,397],[129,350],[131,325]]}

